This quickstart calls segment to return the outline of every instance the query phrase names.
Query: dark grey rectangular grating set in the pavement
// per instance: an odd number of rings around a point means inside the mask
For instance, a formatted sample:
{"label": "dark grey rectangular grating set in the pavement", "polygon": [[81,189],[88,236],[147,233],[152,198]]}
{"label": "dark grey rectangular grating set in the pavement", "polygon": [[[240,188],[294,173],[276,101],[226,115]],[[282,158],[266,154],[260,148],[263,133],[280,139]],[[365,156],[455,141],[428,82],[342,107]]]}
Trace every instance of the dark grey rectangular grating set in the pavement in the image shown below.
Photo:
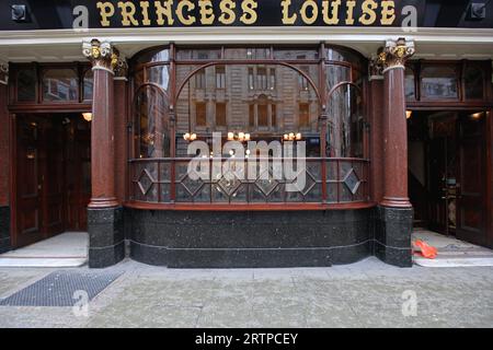
{"label": "dark grey rectangular grating set in the pavement", "polygon": [[122,273],[51,272],[23,290],[0,300],[0,306],[73,306],[80,300],[81,292],[85,292],[91,301]]}

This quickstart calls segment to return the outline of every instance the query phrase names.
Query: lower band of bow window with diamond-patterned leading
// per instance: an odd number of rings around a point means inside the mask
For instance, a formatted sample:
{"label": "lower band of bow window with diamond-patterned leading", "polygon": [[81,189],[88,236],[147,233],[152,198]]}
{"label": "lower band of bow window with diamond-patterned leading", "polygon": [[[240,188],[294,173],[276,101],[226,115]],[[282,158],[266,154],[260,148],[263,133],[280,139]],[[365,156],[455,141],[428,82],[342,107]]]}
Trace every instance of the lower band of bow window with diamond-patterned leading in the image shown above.
{"label": "lower band of bow window with diamond-patterned leading", "polygon": [[[363,159],[303,159],[305,175],[302,171],[297,171],[295,161],[297,176],[289,178],[284,176],[284,172],[280,177],[274,176],[273,159],[268,160],[268,166],[261,167],[260,159],[256,160],[257,163],[249,163],[249,160],[216,158],[195,160],[202,166],[198,167],[198,173],[203,174],[197,179],[197,172],[188,174],[191,161],[192,159],[130,160],[129,201],[252,206],[369,202],[369,161]],[[214,173],[218,168],[215,164],[219,164],[225,171]],[[234,172],[243,176],[236,176]],[[301,188],[299,184],[305,184],[305,187]]]}

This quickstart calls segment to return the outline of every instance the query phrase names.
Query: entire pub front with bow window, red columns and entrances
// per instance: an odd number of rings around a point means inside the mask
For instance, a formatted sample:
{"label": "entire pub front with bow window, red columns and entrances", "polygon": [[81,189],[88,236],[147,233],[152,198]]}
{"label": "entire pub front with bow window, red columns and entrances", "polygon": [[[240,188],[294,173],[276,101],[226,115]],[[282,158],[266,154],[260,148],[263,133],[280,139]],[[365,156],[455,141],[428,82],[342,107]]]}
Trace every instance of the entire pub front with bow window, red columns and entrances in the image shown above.
{"label": "entire pub front with bow window, red columns and entrances", "polygon": [[410,267],[413,225],[493,248],[493,3],[51,2],[1,4],[0,253],[87,231],[93,268]]}

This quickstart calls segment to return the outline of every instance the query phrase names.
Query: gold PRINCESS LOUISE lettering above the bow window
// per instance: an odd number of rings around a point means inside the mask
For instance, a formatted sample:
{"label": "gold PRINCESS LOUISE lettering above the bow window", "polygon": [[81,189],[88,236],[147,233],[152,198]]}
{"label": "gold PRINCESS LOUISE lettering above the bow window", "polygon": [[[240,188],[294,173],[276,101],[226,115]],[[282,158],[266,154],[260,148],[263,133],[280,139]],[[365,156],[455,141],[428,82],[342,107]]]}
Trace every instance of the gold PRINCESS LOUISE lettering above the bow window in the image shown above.
{"label": "gold PRINCESS LOUISE lettering above the bow window", "polygon": [[161,0],[98,1],[99,24],[111,26],[401,25],[419,1]]}

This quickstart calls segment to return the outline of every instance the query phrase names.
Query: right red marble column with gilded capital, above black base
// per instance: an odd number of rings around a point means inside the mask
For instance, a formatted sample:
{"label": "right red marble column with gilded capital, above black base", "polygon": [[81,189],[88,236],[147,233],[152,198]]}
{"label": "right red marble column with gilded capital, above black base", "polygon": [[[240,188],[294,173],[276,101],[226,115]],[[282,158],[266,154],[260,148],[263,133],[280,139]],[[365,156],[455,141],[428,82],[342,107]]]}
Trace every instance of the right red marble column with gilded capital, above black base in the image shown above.
{"label": "right red marble column with gilded capital, above black base", "polygon": [[383,59],[383,199],[382,207],[412,208],[408,195],[408,122],[405,118],[404,65],[414,45],[389,40]]}

